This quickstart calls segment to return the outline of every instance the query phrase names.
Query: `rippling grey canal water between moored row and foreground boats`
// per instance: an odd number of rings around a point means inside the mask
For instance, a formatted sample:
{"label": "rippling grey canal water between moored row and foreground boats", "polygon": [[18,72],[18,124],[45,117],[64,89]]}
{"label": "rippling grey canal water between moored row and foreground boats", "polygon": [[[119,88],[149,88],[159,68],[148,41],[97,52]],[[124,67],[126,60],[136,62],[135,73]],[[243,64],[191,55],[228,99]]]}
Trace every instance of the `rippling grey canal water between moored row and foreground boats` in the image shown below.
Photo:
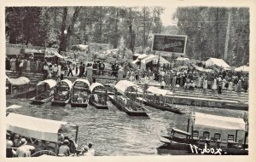
{"label": "rippling grey canal water between moored row and foreground boats", "polygon": [[[88,106],[65,107],[44,105],[32,105],[27,99],[10,98],[7,95],[7,106],[17,104],[22,106],[13,110],[15,113],[29,115],[43,119],[54,119],[79,124],[79,148],[93,143],[96,155],[149,155],[157,154],[156,148],[160,147],[158,136],[170,135],[172,127],[181,130],[187,129],[188,114],[178,115],[164,112],[152,107],[146,107],[150,119],[140,117],[129,117],[126,113],[120,112],[108,101],[108,110],[98,110]],[[185,113],[195,111],[236,118],[243,118],[244,111],[227,110],[213,107],[189,107],[179,106]],[[22,122],[22,121],[20,121]],[[205,129],[198,128],[203,131]],[[220,132],[223,139],[227,134],[235,134],[235,130],[210,130]],[[74,135],[74,134],[73,134]],[[71,135],[70,135],[71,136]],[[238,132],[238,138],[243,139],[244,133]]]}

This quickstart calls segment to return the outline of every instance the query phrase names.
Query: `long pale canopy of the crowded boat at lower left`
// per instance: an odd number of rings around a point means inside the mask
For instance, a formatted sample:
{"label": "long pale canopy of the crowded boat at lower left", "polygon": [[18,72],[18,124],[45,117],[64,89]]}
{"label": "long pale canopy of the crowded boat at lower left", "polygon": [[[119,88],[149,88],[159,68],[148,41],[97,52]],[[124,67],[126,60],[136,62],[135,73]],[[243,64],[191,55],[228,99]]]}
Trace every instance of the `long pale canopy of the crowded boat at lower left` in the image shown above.
{"label": "long pale canopy of the crowded boat at lower left", "polygon": [[58,142],[58,131],[67,122],[39,119],[17,113],[6,117],[7,130],[48,142]]}

